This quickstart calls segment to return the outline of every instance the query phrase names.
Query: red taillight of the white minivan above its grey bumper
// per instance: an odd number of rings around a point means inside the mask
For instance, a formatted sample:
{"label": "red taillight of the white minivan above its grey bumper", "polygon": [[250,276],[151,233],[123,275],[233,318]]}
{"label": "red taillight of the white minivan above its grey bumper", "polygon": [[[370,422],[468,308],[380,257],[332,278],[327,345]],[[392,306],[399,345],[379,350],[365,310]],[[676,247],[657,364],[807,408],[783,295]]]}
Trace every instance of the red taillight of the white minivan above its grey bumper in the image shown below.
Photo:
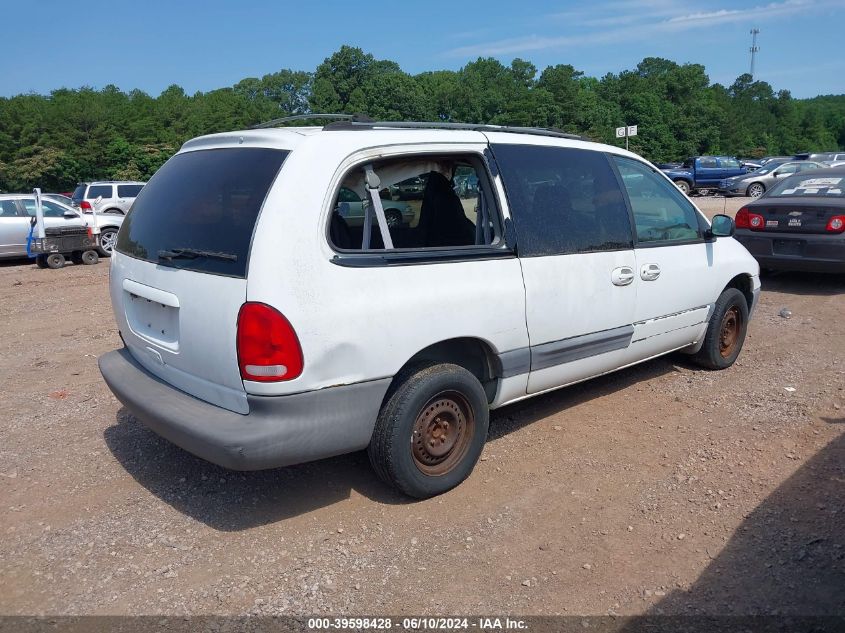
{"label": "red taillight of the white minivan above its grey bumper", "polygon": [[264,303],[245,303],[238,313],[241,378],[257,382],[292,380],[302,373],[302,347],[284,315]]}

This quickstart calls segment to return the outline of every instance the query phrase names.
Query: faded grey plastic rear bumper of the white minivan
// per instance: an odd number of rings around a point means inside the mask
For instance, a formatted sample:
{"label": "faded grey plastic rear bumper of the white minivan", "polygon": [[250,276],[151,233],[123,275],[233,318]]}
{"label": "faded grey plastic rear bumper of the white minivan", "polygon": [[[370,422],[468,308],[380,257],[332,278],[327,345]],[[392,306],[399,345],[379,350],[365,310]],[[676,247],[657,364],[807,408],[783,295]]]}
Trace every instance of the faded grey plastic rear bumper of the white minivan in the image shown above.
{"label": "faded grey plastic rear bumper of the white minivan", "polygon": [[109,389],[147,427],[232,470],[261,470],[366,448],[390,378],[289,396],[249,396],[247,415],[159,380],[126,349],[99,358]]}

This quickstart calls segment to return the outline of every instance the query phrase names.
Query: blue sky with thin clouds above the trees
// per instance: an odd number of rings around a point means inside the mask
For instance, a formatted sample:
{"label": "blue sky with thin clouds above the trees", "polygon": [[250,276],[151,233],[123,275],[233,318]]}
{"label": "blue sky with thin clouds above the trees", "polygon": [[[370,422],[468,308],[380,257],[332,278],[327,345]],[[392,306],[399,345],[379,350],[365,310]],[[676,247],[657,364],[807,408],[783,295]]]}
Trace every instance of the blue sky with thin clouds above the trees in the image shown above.
{"label": "blue sky with thin clouds above the trees", "polygon": [[845,0],[0,0],[0,96],[114,84],[157,96],[314,70],[343,44],[403,70],[478,57],[601,77],[644,57],[702,64],[712,82],[748,72],[795,97],[845,93]]}

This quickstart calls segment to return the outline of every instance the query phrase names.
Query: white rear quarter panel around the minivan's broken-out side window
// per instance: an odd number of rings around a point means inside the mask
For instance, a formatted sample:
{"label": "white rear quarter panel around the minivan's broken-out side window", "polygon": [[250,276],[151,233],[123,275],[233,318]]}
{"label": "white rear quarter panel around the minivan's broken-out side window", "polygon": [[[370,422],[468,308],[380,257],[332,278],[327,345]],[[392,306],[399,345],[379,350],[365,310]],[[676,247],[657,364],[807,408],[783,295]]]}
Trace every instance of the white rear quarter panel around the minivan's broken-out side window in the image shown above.
{"label": "white rear quarter panel around the minivan's broken-out side window", "polygon": [[[464,134],[462,144],[440,144],[433,136],[435,142],[414,143],[407,151],[481,152],[486,146],[477,133]],[[444,140],[460,140],[455,136]],[[384,137],[368,132],[374,147],[357,153],[360,133],[347,137],[320,135],[297,147],[265,202],[253,238],[247,298],[288,318],[305,363],[294,380],[245,382],[247,391],[295,393],[390,377],[418,351],[457,337],[481,339],[494,352],[526,347],[516,258],[373,268],[332,263],[326,227],[340,178],[359,160],[403,147],[403,134],[395,131]],[[387,139],[400,144],[386,148]]]}

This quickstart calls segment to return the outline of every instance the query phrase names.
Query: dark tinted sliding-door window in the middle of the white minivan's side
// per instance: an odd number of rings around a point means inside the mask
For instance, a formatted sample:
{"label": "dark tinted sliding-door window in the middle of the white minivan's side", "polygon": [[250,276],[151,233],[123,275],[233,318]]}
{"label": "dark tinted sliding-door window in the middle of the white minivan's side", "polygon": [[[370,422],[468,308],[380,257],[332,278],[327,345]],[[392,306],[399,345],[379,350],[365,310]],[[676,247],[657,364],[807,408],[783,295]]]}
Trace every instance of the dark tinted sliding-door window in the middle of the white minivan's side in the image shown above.
{"label": "dark tinted sliding-door window in the middle of the white minivan's side", "polygon": [[628,208],[604,154],[510,144],[493,153],[521,256],[632,248]]}

